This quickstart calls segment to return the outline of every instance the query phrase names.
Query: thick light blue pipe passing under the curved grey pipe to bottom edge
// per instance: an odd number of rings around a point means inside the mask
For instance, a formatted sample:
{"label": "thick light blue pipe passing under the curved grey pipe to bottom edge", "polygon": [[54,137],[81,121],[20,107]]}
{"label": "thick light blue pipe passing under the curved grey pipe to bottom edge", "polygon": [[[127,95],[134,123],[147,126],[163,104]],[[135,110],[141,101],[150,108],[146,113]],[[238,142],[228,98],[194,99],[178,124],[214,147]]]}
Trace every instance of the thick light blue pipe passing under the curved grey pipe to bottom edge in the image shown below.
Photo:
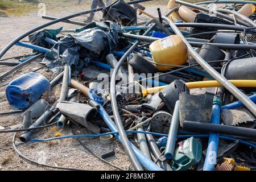
{"label": "thick light blue pipe passing under the curved grey pipe to bottom edge", "polygon": [[[92,93],[88,92],[88,96],[90,99],[94,100]],[[108,113],[106,113],[105,109],[101,106],[101,104],[97,101],[94,100],[100,105],[100,109],[98,109],[98,113],[101,115],[101,118],[104,119],[106,125],[108,125],[109,129],[111,131],[118,132],[117,127],[115,126],[115,123],[112,121],[112,119],[109,117]],[[121,137],[116,134],[115,137],[121,141]],[[138,150],[137,147],[133,145],[133,143],[130,142],[131,147],[133,148],[135,155],[137,156],[139,162],[144,166],[146,169],[150,171],[163,171],[162,168],[160,168],[157,164],[152,162],[152,160],[148,159],[147,156],[142,154],[140,150]]]}

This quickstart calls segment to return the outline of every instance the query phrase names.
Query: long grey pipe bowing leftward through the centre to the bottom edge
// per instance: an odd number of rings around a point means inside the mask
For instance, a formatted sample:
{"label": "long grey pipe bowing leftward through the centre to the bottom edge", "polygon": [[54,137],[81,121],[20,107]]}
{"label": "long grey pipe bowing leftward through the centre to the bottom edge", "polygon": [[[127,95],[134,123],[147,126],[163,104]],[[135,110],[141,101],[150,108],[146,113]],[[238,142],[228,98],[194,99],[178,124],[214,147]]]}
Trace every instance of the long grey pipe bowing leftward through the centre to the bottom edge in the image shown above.
{"label": "long grey pipe bowing leftward through the centre to the bottom edge", "polygon": [[[167,13],[167,16],[170,15],[172,12],[174,12],[175,9],[170,10]],[[148,30],[143,34],[143,35],[148,35],[152,30],[154,30],[156,24],[154,23],[150,28],[148,28]],[[110,96],[111,96],[111,105],[112,105],[112,110],[113,110],[113,115],[114,115],[114,119],[115,119],[115,123],[117,125],[117,129],[118,129],[118,133],[120,135],[121,138],[121,143],[123,145],[123,147],[125,148],[125,151],[127,153],[127,155],[129,156],[131,163],[133,164],[135,170],[140,170],[142,171],[142,166],[141,164],[139,164],[139,161],[134,153],[133,148],[131,148],[131,145],[129,143],[129,140],[126,136],[125,133],[125,129],[123,129],[122,126],[122,121],[121,121],[121,117],[119,115],[119,110],[118,110],[118,105],[117,105],[117,98],[115,97],[115,77],[117,76],[117,73],[119,71],[119,69],[121,68],[123,62],[126,60],[126,57],[130,55],[130,53],[139,45],[141,41],[137,41],[133,44],[133,46],[131,46],[128,51],[125,52],[125,54],[121,57],[121,59],[118,61],[118,64],[116,65],[113,74],[112,74],[112,78],[110,81]]]}

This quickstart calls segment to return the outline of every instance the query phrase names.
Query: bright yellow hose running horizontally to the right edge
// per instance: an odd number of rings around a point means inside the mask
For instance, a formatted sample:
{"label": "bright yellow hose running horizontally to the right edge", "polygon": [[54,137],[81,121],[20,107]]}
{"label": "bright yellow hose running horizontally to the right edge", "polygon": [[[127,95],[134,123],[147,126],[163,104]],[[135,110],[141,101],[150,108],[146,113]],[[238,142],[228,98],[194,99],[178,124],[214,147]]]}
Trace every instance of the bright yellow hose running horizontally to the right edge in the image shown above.
{"label": "bright yellow hose running horizontally to the right edge", "polygon": [[[256,87],[256,80],[229,80],[234,86],[237,87]],[[216,81],[195,81],[195,82],[187,82],[186,86],[189,89],[196,88],[210,88],[210,87],[221,87],[222,85]],[[156,94],[160,90],[164,89],[166,86],[158,86],[154,88],[142,88],[142,96],[146,96],[148,94]]]}

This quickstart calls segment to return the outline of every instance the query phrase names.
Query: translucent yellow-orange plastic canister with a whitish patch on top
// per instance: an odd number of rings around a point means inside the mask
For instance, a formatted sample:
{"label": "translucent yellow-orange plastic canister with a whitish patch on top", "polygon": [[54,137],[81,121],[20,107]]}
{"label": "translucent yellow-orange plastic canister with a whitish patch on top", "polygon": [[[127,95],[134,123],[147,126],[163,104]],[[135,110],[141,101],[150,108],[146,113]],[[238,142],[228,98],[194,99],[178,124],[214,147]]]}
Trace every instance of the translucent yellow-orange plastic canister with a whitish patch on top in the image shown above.
{"label": "translucent yellow-orange plastic canister with a whitish patch on top", "polygon": [[[150,45],[150,51],[155,63],[182,65],[188,60],[187,47],[179,35],[156,40]],[[156,65],[161,71],[174,67]]]}

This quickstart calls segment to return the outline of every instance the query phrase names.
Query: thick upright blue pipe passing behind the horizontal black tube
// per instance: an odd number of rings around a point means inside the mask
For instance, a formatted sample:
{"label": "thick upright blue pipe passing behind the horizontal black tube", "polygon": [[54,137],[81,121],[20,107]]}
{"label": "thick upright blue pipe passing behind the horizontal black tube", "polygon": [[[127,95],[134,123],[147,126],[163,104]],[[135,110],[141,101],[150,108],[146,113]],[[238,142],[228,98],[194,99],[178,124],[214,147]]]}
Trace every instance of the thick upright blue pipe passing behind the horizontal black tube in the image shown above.
{"label": "thick upright blue pipe passing behind the horizontal black tube", "polygon": [[[220,100],[214,98],[212,107],[212,124],[220,125]],[[203,171],[214,171],[214,165],[217,163],[219,134],[210,133],[207,148],[207,155],[205,156]]]}

